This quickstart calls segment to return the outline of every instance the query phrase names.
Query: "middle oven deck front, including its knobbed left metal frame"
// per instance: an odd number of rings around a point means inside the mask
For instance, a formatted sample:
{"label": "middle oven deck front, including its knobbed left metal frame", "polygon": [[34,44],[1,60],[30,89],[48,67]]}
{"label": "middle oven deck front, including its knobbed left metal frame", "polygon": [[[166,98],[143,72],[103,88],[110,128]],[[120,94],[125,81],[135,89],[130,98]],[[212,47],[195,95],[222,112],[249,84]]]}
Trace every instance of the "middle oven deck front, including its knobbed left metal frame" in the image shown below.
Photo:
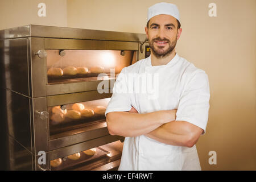
{"label": "middle oven deck front, including its knobbed left metal frame", "polygon": [[[111,89],[35,98],[35,152],[46,151],[49,161],[102,146],[123,137],[109,135],[105,109]],[[107,154],[107,153],[106,153]],[[36,161],[39,159],[36,156]]]}

